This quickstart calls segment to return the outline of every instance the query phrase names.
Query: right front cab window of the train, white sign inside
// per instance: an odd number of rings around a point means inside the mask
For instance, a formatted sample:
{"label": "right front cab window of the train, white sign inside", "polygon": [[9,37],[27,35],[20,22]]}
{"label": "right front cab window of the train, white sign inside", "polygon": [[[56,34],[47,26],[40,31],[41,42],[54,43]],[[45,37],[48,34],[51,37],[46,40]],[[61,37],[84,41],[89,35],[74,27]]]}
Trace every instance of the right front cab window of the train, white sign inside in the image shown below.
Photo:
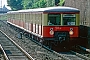
{"label": "right front cab window of the train, white sign inside", "polygon": [[63,14],[63,25],[76,25],[76,15]]}

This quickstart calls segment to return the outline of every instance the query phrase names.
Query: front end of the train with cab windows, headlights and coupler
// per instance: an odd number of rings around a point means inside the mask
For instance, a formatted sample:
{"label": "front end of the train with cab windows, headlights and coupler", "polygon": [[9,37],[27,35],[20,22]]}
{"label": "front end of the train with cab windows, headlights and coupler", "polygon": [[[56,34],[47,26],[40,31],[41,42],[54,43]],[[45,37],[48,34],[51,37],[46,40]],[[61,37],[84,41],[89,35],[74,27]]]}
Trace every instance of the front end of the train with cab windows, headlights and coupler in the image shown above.
{"label": "front end of the train with cab windows, headlights and coupler", "polygon": [[43,22],[46,25],[43,26],[42,34],[46,41],[45,44],[56,50],[60,47],[66,49],[75,45],[86,46],[87,32],[84,31],[87,31],[87,28],[80,26],[79,10],[61,8],[61,10],[56,10],[57,12],[53,11],[44,13],[45,20]]}

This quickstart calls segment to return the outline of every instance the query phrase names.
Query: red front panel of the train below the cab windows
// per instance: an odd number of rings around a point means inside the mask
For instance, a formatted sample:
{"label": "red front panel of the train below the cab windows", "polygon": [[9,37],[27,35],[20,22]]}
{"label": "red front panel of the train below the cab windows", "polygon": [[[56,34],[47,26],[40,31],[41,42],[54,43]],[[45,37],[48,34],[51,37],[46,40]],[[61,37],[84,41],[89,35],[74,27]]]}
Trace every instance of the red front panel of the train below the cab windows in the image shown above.
{"label": "red front panel of the train below the cab windows", "polygon": [[[43,37],[53,37],[50,34],[50,30],[53,29],[55,31],[68,31],[71,33],[70,37],[79,37],[79,27],[78,26],[44,26],[43,27]],[[72,31],[72,32],[71,32]]]}

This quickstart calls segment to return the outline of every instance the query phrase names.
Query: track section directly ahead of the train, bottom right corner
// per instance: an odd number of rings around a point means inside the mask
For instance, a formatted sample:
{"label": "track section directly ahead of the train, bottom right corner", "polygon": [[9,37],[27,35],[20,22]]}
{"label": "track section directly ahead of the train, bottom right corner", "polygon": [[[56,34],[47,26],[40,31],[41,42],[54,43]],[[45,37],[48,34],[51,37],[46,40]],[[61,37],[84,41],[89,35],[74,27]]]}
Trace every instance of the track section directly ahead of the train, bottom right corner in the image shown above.
{"label": "track section directly ahead of the train, bottom right corner", "polygon": [[90,49],[81,46],[77,46],[76,52],[71,50],[60,54],[63,54],[69,60],[90,60]]}

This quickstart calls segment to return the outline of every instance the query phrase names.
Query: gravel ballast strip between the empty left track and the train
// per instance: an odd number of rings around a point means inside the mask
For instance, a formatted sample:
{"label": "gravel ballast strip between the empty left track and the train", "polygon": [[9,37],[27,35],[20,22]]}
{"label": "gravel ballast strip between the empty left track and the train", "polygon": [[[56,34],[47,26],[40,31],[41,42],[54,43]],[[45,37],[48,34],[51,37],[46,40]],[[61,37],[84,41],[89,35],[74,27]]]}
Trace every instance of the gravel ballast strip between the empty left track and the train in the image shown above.
{"label": "gravel ballast strip between the empty left track and the train", "polygon": [[36,60],[57,60],[57,59],[61,60],[60,56],[42,48],[41,46],[32,42],[30,39],[26,38],[25,36],[23,36],[22,39],[18,39],[16,37],[18,32],[10,29],[7,25],[5,26],[6,22],[4,22],[4,25],[2,23],[1,23],[2,30],[5,33],[8,32],[7,35],[10,36],[16,43],[18,43],[24,50],[26,50],[26,52],[28,52],[34,59]]}

